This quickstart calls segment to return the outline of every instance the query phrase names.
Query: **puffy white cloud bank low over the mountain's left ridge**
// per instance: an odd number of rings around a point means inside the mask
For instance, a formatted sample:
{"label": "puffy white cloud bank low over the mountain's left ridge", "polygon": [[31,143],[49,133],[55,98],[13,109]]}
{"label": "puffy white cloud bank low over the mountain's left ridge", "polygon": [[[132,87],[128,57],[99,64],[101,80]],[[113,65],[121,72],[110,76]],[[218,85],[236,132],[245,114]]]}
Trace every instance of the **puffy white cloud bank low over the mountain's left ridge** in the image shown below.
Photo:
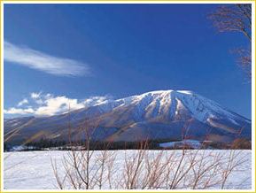
{"label": "puffy white cloud bank low over the mountain's left ridge", "polygon": [[[100,104],[110,100],[112,97],[89,97],[87,99],[78,100],[74,98],[68,98],[65,96],[54,97],[51,94],[40,93],[30,93],[27,106],[24,108],[12,107],[9,110],[4,110],[5,114],[33,114],[36,116],[50,116],[56,115],[63,112],[71,111],[75,109],[80,109],[83,107],[89,107],[96,104]],[[23,100],[22,100],[23,101]],[[21,101],[21,102],[22,102]],[[20,103],[20,102],[19,102]],[[31,105],[35,104],[35,105]]]}

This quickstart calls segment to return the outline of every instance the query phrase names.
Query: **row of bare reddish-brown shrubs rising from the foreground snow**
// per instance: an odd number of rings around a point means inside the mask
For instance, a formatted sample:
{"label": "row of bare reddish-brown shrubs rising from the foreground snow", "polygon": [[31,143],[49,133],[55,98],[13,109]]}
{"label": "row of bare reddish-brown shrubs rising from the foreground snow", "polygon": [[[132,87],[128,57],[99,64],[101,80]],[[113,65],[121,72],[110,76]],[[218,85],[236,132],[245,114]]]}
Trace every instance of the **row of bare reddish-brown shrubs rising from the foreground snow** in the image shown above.
{"label": "row of bare reddish-brown shrubs rising from the foreground snow", "polygon": [[[94,124],[95,121],[92,121]],[[189,126],[182,128],[182,150],[149,150],[148,137],[140,140],[136,150],[121,151],[124,160],[116,160],[118,151],[109,151],[112,143],[101,143],[96,151],[97,124],[84,119],[79,128],[80,139],[70,145],[72,151],[64,157],[65,174],[60,177],[58,166],[52,161],[59,189],[228,189],[229,176],[245,161],[242,151],[206,150],[201,143],[198,150],[190,150],[187,143]],[[85,141],[81,143],[81,135]],[[206,136],[207,138],[207,136]],[[97,138],[99,139],[99,138]],[[236,142],[237,143],[237,142]],[[229,155],[227,155],[227,152]],[[115,166],[118,164],[118,166]]]}

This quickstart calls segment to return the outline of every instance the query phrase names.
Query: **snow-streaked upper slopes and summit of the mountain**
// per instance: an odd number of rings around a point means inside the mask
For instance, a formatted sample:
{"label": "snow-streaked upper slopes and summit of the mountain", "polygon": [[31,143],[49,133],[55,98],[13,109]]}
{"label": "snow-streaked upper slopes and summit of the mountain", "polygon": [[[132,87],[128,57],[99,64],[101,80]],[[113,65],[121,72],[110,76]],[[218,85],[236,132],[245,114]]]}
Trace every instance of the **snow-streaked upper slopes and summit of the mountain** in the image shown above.
{"label": "snow-streaked upper slopes and summit of the mountain", "polygon": [[237,125],[239,124],[236,120],[251,123],[250,120],[237,115],[237,113],[191,91],[152,91],[96,105],[100,106],[103,112],[111,112],[116,107],[135,105],[134,117],[136,120],[141,119],[144,115],[146,119],[150,119],[165,113],[169,113],[169,119],[172,120],[183,111],[189,111],[191,117],[205,123],[212,118],[226,118]]}

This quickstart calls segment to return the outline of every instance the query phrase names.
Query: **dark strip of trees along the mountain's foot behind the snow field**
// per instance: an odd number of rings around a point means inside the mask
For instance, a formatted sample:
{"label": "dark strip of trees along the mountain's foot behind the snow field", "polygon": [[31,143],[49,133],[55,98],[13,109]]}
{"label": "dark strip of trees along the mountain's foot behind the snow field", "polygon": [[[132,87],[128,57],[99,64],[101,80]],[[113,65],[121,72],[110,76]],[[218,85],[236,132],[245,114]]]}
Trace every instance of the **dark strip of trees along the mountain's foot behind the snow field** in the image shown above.
{"label": "dark strip of trees along the mountain's foot behind the snow field", "polygon": [[[179,142],[182,139],[161,139],[161,140],[149,140],[147,141],[147,149],[149,150],[162,150],[163,148],[159,146],[159,143],[167,142]],[[139,150],[141,149],[141,144],[144,144],[145,141],[141,142],[98,142],[92,141],[89,143],[89,150]],[[66,141],[51,141],[44,138],[41,138],[39,141],[30,142],[23,145],[23,148],[20,151],[69,151],[69,150],[86,150],[86,142],[80,143],[68,143]],[[167,150],[180,150],[184,148],[182,146],[175,145],[174,147],[165,148]],[[190,144],[185,144],[185,149],[193,149]],[[234,140],[233,143],[217,143],[217,142],[201,142],[200,149],[219,149],[219,150],[228,150],[228,149],[252,149],[252,142],[249,138],[239,137]],[[12,151],[12,145],[4,143],[4,151]]]}

